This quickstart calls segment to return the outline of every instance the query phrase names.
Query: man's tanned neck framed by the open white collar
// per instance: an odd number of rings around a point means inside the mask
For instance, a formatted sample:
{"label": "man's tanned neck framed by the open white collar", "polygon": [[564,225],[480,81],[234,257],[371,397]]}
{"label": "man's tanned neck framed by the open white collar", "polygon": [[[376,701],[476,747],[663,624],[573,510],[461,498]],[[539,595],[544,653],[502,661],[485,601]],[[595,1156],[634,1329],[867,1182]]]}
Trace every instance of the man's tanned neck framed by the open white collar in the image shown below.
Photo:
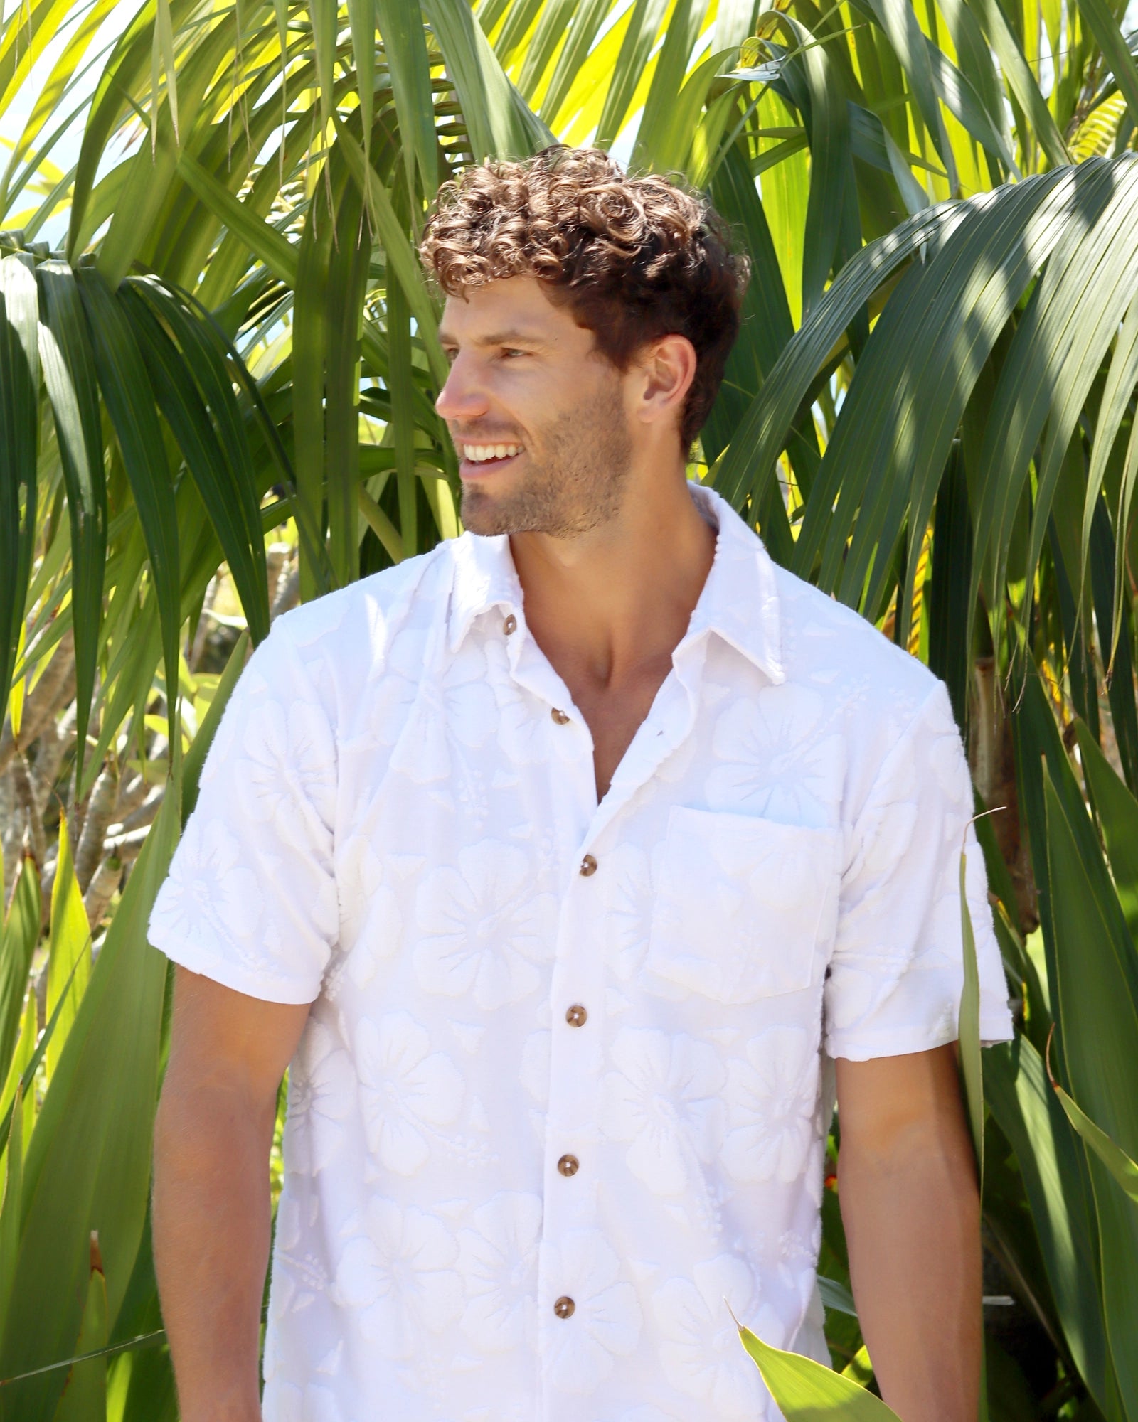
{"label": "man's tanned neck framed by the open white collar", "polygon": [[716,535],[683,469],[637,489],[573,539],[511,538],[526,623],[576,695],[619,691],[670,663],[711,570]]}

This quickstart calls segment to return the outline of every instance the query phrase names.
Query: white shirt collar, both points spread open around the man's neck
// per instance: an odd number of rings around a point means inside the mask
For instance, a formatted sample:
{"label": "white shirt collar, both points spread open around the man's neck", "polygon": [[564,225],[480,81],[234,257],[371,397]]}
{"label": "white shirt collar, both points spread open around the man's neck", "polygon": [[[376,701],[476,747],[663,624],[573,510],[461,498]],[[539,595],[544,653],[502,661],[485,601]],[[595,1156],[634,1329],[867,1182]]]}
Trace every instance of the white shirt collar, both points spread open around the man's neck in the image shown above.
{"label": "white shirt collar, both points spread open around the man's neck", "polygon": [[[698,483],[688,488],[716,529],[716,557],[676,650],[716,633],[771,681],[785,681],[774,563],[758,535],[721,495]],[[521,621],[522,587],[505,533],[492,538],[464,533],[451,547],[454,583],[448,640],[454,653],[475,617],[494,607],[502,609],[504,616],[514,613]]]}

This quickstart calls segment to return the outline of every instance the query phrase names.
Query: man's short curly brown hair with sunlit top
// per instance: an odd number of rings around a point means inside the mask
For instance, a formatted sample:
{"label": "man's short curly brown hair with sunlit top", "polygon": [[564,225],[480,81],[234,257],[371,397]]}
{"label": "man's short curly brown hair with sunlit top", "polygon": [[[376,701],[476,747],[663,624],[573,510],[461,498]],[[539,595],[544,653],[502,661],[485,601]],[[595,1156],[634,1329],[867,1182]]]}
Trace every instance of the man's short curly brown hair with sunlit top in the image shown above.
{"label": "man's short curly brown hair with sunlit top", "polygon": [[558,144],[445,183],[420,256],[448,296],[538,277],[622,371],[649,341],[686,336],[697,357],[680,421],[690,448],[723,381],[750,274],[701,196],[667,178],[627,178],[596,148]]}

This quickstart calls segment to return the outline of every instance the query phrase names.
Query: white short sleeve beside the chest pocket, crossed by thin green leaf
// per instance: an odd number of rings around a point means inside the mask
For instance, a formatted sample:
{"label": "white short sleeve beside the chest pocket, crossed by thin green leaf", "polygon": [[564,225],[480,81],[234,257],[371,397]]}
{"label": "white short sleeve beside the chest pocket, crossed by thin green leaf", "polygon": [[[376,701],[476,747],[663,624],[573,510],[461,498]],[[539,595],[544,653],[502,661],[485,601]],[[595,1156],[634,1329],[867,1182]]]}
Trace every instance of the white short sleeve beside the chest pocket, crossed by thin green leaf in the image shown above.
{"label": "white short sleeve beside the chest pocket, crossed by thin green leaf", "polygon": [[849,832],[825,985],[831,1057],[866,1061],[956,1041],[964,981],[962,848],[980,971],[980,1038],[1011,1038],[972,816],[967,762],[937,683],[886,754]]}

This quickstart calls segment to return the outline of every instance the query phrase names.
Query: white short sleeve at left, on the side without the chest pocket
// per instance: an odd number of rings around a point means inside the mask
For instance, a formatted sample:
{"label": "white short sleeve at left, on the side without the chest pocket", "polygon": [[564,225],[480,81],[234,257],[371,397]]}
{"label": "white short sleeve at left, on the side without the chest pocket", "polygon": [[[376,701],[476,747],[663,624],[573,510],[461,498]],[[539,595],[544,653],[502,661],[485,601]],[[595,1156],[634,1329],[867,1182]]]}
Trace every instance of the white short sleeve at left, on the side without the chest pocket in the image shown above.
{"label": "white short sleeve at left, on the side without the chest pocket", "polygon": [[249,997],[319,997],[339,931],[334,803],[336,741],[283,619],[218,727],[151,943]]}

